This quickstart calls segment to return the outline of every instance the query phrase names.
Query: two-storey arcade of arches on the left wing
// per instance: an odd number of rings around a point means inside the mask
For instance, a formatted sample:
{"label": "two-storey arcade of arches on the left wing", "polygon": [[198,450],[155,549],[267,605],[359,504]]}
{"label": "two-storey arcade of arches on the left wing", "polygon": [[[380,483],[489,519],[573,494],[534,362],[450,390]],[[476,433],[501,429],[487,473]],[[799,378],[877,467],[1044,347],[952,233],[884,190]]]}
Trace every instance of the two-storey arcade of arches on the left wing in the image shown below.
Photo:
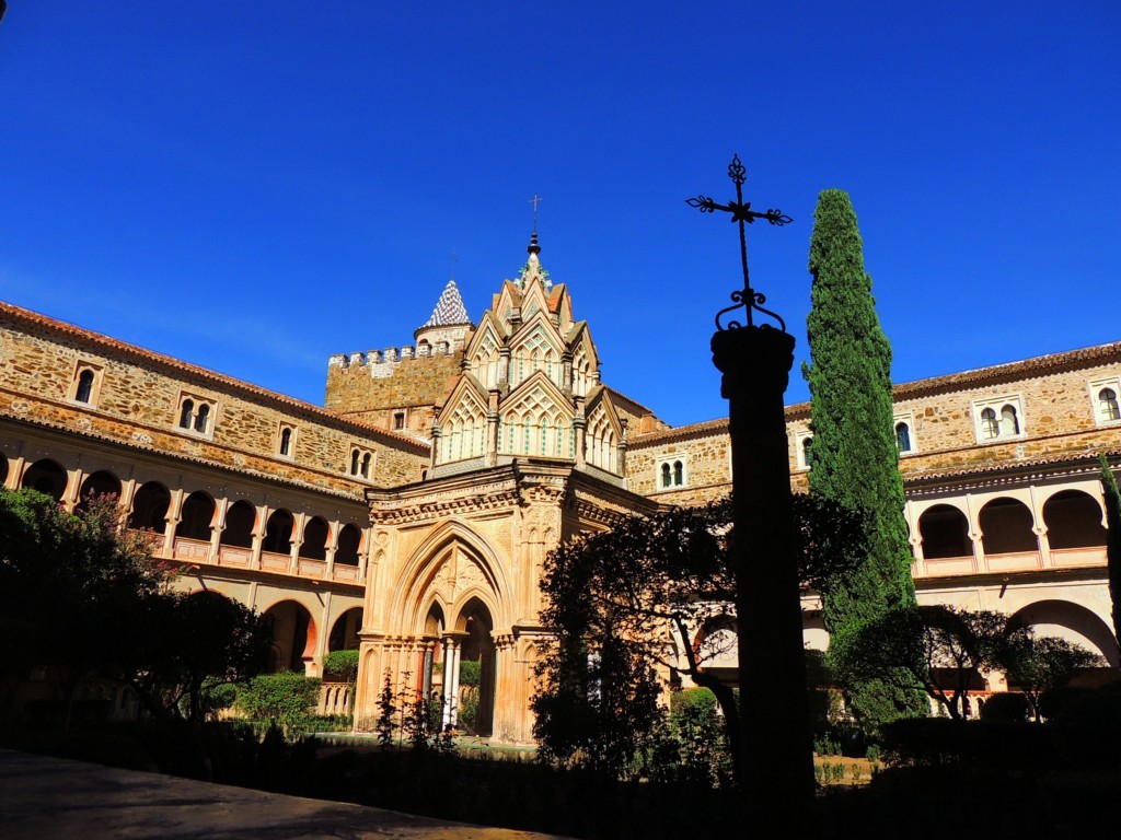
{"label": "two-storey arcade of arches on the left wing", "polygon": [[71,511],[114,497],[126,526],[150,532],[155,556],[180,564],[175,586],[239,600],[271,619],[276,670],[318,675],[325,653],[359,646],[369,530],[361,502],[249,482],[215,489],[205,474],[193,487],[189,474],[158,463],[146,469],[106,458],[93,468],[89,452],[75,454],[68,468],[61,460],[64,452],[33,461],[0,454],[0,480]]}

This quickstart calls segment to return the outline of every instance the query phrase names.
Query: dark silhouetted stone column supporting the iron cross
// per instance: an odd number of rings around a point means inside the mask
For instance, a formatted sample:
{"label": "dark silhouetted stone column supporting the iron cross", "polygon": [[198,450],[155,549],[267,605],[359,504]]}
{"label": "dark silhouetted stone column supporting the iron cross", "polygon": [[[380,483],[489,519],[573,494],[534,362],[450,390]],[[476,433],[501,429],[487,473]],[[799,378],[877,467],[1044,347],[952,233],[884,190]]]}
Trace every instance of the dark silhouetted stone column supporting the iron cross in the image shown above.
{"label": "dark silhouetted stone column supporting the iron cross", "polygon": [[[794,337],[740,327],[712,337],[732,441],[740,772],[744,828],[812,819],[814,765],[782,394]],[[794,833],[798,833],[795,831]]]}

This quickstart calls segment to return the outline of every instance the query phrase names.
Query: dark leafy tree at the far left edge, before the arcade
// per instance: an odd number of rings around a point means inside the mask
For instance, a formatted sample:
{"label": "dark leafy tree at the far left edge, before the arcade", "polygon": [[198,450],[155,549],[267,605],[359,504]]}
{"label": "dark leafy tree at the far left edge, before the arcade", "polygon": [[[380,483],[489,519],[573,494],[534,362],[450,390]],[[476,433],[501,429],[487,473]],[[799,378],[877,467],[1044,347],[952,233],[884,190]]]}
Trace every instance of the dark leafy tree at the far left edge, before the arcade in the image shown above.
{"label": "dark leafy tree at the far left edge, before the arcade", "polygon": [[137,620],[172,573],[121,528],[114,496],[74,514],[31,489],[0,489],[0,653],[9,675],[46,668],[68,726],[83,681],[135,661]]}

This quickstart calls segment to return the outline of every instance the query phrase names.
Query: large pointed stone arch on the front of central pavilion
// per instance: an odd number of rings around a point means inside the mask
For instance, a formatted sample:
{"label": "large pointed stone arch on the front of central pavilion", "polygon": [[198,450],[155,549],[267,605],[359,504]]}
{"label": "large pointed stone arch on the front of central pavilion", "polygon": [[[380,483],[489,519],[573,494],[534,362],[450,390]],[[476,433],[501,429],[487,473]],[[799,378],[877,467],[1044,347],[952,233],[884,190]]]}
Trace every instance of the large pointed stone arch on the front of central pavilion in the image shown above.
{"label": "large pointed stone arch on the front of central pavilion", "polygon": [[511,591],[498,552],[467,525],[452,520],[437,526],[405,562],[388,614],[398,622],[393,629],[420,634],[434,600],[444,605],[445,615],[455,615],[455,605],[478,597],[497,626],[508,627]]}

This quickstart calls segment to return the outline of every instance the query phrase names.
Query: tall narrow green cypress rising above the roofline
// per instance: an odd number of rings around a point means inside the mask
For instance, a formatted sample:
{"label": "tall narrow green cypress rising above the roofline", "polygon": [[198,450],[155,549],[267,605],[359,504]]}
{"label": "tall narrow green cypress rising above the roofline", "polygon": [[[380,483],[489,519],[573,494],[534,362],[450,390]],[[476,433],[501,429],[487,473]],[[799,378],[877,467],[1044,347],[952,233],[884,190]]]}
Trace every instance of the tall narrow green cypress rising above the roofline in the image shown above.
{"label": "tall narrow green cypress rising above the roofline", "polygon": [[[864,271],[856,214],[846,193],[824,190],[809,245],[813,274],[807,335],[813,466],[809,487],[865,514],[868,554],[835,575],[824,592],[831,648],[843,651],[860,628],[915,604],[904,520],[904,486],[892,424],[891,345],[880,328],[872,279]],[[843,657],[842,657],[843,659]],[[850,711],[876,727],[917,713],[925,699],[898,680],[837,670]]]}

